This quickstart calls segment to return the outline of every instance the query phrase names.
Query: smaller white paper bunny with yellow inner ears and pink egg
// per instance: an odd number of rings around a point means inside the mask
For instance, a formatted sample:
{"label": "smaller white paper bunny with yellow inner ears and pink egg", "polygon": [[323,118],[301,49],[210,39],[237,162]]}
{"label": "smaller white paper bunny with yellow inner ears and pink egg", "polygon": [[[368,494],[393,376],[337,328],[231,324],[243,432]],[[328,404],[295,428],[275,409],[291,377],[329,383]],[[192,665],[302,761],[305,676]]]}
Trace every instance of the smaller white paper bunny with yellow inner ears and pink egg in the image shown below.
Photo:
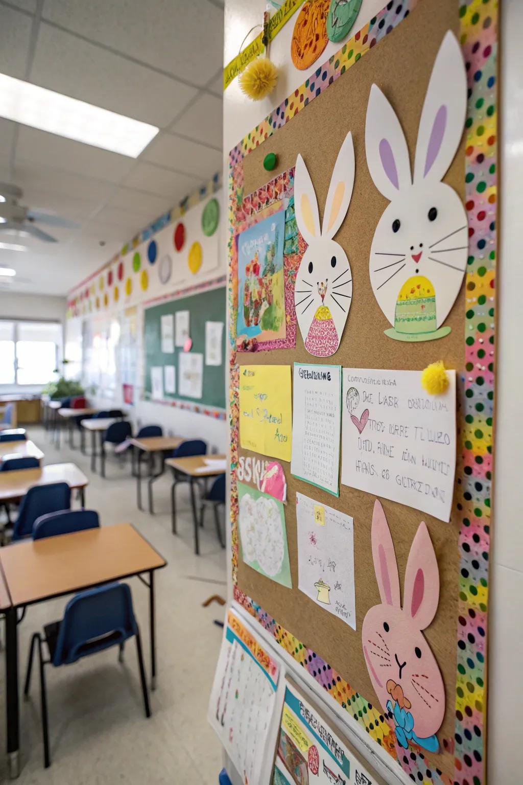
{"label": "smaller white paper bunny with yellow inner ears and pink egg", "polygon": [[296,223],[307,250],[296,276],[294,307],[305,348],[315,357],[338,349],[352,298],[352,274],[343,248],[332,238],[347,214],[354,186],[354,147],[347,133],[340,148],[320,230],[318,201],[301,155],[294,173]]}

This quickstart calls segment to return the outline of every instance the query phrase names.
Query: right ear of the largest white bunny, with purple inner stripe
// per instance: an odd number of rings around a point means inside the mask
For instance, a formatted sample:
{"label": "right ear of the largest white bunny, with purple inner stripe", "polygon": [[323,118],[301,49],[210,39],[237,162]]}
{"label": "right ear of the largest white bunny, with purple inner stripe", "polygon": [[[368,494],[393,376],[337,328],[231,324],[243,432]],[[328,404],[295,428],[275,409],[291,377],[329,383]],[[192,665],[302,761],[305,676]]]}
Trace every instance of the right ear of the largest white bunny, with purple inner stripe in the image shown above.
{"label": "right ear of the largest white bunny, with purple inner stripe", "polygon": [[440,181],[449,169],[467,112],[467,72],[456,36],[441,42],[419,120],[414,182]]}

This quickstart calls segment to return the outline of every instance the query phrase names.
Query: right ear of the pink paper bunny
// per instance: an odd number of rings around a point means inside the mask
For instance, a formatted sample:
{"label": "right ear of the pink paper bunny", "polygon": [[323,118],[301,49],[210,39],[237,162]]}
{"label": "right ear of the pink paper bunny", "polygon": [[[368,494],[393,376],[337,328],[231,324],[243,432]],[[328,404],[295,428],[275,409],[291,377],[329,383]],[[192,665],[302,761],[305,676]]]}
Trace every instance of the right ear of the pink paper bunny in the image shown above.
{"label": "right ear of the pink paper bunny", "polygon": [[427,525],[419,524],[405,570],[403,610],[419,630],[429,626],[438,610],[439,570]]}

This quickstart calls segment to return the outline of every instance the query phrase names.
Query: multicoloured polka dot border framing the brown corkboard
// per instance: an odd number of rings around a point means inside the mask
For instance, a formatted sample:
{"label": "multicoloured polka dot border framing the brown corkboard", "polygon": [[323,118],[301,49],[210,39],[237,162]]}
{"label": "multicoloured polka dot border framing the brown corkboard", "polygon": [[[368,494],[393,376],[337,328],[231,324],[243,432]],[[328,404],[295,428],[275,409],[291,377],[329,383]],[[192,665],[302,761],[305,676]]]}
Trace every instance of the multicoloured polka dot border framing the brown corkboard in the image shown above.
{"label": "multicoloured polka dot border framing the brown corkboard", "polygon": [[[271,619],[263,608],[235,586],[238,571],[238,388],[235,363],[236,260],[234,233],[245,219],[243,203],[244,155],[281,128],[327,86],[352,67],[408,16],[419,0],[388,2],[369,24],[351,38],[329,62],[296,89],[229,156],[228,217],[231,334],[231,542],[234,598],[271,632],[296,662],[330,692],[347,713],[398,761],[416,783],[482,785],[485,783],[485,652],[492,481],[492,411],[494,393],[494,308],[496,268],[496,27],[497,0],[456,0],[463,57],[467,64],[468,108],[466,148],[466,207],[470,253],[466,276],[466,369],[459,394],[463,397],[462,455],[456,467],[459,489],[456,510],[461,520],[459,576],[459,636],[457,640],[456,723],[454,739],[443,739],[454,754],[453,776],[438,769],[438,756],[429,758],[418,748],[403,750],[376,710],[315,652]],[[262,189],[263,190],[263,189]]]}

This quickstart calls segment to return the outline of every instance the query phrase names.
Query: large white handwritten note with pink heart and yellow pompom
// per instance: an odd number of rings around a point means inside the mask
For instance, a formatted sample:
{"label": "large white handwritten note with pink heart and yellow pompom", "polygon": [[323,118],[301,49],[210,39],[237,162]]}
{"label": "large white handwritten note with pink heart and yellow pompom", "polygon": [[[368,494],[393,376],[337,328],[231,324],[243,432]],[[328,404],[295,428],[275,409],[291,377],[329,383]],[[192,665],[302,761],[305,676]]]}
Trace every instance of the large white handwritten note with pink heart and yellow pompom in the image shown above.
{"label": "large white handwritten note with pink heart and yellow pompom", "polygon": [[456,470],[456,372],[430,396],[420,371],[343,368],[341,481],[450,520]]}

